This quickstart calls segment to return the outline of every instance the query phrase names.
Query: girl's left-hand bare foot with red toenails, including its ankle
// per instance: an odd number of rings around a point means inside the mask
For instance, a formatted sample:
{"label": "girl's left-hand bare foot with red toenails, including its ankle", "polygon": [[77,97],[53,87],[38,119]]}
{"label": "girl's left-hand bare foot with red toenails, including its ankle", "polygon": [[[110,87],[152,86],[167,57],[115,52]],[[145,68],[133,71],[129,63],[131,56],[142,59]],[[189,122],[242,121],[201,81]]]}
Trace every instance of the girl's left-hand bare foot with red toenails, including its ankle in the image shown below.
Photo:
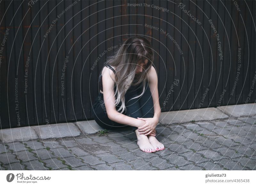
{"label": "girl's left-hand bare foot with red toenails, including its ankle", "polygon": [[139,134],[138,129],[135,130],[135,133],[136,133],[137,138],[138,138],[137,145],[139,145],[141,151],[143,151],[143,152],[156,152],[156,149],[149,142],[148,136],[145,136],[144,134]]}

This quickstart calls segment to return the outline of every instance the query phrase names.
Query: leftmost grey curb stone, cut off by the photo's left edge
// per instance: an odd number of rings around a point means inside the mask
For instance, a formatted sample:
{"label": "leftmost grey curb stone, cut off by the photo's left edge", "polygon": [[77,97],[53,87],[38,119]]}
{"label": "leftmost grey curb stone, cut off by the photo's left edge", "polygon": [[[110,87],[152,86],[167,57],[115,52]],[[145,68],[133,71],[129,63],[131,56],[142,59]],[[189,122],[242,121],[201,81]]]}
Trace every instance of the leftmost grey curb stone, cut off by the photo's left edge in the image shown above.
{"label": "leftmost grey curb stone, cut off by the photo's left edge", "polygon": [[0,130],[0,140],[4,143],[28,141],[37,138],[36,132],[31,127],[6,128]]}

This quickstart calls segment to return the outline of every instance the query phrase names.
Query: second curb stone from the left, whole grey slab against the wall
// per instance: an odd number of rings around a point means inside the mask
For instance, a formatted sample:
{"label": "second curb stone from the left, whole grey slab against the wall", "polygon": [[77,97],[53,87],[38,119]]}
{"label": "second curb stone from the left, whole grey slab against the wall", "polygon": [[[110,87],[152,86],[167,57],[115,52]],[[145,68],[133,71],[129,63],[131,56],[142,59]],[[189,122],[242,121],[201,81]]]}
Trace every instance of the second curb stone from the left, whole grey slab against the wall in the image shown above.
{"label": "second curb stone from the left, whole grey slab against the wall", "polygon": [[57,123],[32,126],[40,139],[80,136],[81,132],[74,123]]}

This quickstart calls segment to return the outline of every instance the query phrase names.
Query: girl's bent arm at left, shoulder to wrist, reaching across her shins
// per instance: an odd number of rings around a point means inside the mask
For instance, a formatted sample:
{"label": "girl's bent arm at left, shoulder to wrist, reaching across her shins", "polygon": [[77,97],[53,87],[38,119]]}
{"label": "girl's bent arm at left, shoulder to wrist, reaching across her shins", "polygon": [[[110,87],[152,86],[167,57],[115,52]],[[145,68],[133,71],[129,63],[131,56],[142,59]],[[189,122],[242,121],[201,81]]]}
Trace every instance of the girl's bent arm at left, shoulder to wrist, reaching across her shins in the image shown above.
{"label": "girl's bent arm at left, shoulder to wrist, reaching across her shins", "polygon": [[139,120],[136,118],[132,118],[121,114],[116,111],[115,106],[115,93],[113,90],[115,74],[112,70],[107,67],[102,69],[102,86],[103,86],[103,98],[105,107],[107,110],[108,118],[112,121],[116,121],[117,123],[121,123],[124,125],[130,125],[133,127],[141,127],[146,122],[143,120]]}

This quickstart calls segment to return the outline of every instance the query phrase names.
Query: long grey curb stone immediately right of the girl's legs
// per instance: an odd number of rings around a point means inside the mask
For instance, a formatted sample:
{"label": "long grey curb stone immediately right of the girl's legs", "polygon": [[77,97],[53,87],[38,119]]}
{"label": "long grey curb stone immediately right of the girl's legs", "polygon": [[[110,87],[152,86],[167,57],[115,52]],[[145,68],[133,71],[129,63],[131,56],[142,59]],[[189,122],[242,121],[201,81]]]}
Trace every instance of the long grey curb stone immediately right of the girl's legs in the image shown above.
{"label": "long grey curb stone immediately right of the girl's legs", "polygon": [[[197,112],[197,114],[196,114]],[[214,114],[213,114],[214,113]],[[161,112],[159,122],[162,124],[170,123],[185,123],[191,120],[215,120],[227,118],[228,115],[215,108],[201,108],[200,112],[197,109]]]}

